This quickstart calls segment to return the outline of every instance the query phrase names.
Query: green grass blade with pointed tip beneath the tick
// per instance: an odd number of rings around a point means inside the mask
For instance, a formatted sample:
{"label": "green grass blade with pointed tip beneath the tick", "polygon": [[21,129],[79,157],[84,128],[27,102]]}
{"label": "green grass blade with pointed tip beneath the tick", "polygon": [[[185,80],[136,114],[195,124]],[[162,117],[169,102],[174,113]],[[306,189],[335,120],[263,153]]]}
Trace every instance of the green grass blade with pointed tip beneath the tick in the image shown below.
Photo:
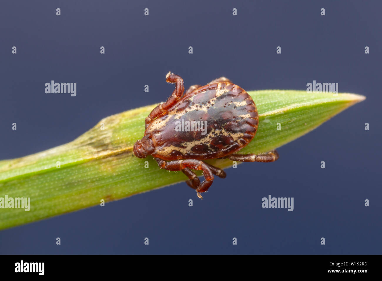
{"label": "green grass blade with pointed tip beneath the tick", "polygon": [[[364,96],[264,90],[248,92],[259,112],[256,136],[240,153],[262,153],[313,130]],[[0,161],[1,198],[30,197],[30,211],[0,208],[0,229],[80,210],[186,180],[160,170],[152,157],[133,157],[144,133],[144,119],[155,105],[102,119],[74,141],[22,158]],[[277,123],[281,130],[277,130]],[[104,130],[102,130],[104,124]],[[60,161],[60,168],[57,168]],[[146,169],[145,161],[149,168]],[[282,161],[282,155],[280,160]],[[231,166],[232,161],[209,163]]]}

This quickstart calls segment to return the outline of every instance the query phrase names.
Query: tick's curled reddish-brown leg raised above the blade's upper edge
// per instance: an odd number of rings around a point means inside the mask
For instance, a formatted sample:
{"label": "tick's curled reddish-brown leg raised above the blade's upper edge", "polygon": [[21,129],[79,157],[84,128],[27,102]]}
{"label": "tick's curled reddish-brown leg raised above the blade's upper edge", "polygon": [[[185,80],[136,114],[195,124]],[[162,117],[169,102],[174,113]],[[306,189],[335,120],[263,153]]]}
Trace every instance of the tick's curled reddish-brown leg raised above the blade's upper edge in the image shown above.
{"label": "tick's curled reddish-brown leg raised above the blade's upper edge", "polygon": [[179,99],[182,97],[183,92],[185,91],[185,87],[183,86],[183,79],[174,73],[167,73],[166,75],[166,81],[168,83],[175,83],[175,89],[172,92],[172,95],[168,98],[166,102],[163,102],[162,104],[158,104],[157,107],[155,107],[148,117],[145,119],[146,128],[149,126],[152,120],[155,119],[158,115],[165,112],[167,109],[172,107]]}

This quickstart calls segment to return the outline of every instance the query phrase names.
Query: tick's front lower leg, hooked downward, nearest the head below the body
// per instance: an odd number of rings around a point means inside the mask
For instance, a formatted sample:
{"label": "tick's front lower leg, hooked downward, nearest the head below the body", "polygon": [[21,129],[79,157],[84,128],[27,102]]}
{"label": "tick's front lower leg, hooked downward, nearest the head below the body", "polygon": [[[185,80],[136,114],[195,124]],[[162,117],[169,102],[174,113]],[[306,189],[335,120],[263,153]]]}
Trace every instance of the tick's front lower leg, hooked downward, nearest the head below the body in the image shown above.
{"label": "tick's front lower leg, hooked downward, nearest the head below the body", "polygon": [[165,169],[168,171],[181,171],[186,167],[194,170],[202,170],[205,180],[196,188],[199,198],[202,198],[199,192],[206,192],[214,181],[213,172],[209,168],[210,165],[204,163],[203,161],[186,159],[166,162],[160,158],[155,158],[155,160],[158,162],[160,169]]}

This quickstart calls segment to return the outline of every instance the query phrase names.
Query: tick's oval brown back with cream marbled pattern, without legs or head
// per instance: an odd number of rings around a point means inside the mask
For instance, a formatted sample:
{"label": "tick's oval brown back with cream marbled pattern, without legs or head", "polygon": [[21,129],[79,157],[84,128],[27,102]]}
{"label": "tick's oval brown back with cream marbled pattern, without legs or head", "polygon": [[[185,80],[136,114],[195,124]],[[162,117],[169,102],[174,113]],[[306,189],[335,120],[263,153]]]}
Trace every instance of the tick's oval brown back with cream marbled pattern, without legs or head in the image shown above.
{"label": "tick's oval brown back with cream marbled pattern, without legs or head", "polygon": [[[176,131],[176,121],[207,122],[207,132]],[[219,82],[197,88],[154,119],[145,135],[151,135],[155,151],[163,160],[214,159],[235,153],[255,136],[256,106],[239,86]],[[200,128],[200,127],[199,127]]]}

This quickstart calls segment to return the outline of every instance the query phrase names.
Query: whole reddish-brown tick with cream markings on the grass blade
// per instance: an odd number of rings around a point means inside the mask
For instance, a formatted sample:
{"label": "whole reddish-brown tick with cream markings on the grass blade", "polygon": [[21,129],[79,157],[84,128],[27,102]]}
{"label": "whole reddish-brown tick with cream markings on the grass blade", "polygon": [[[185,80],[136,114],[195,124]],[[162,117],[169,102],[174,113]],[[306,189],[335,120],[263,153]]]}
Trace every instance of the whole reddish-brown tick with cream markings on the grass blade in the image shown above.
{"label": "whole reddish-brown tick with cream markings on the grass blade", "polygon": [[[264,154],[235,154],[255,136],[259,117],[251,96],[225,77],[206,86],[193,85],[185,90],[183,79],[167,73],[166,81],[175,83],[172,96],[155,107],[146,117],[144,137],[134,144],[139,158],[151,155],[160,169],[182,171],[187,184],[202,198],[212,185],[214,175],[225,178],[225,172],[204,162],[228,158],[241,162],[273,162],[277,151]],[[191,171],[202,170],[201,183]]]}

